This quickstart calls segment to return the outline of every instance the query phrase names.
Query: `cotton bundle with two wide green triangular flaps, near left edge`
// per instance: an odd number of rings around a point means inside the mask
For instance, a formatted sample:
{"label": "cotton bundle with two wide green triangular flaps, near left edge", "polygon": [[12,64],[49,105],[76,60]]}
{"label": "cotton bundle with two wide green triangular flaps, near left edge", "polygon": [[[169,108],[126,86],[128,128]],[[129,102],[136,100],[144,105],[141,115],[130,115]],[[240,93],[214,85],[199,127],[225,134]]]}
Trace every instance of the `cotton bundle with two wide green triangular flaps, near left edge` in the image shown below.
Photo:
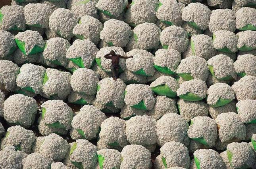
{"label": "cotton bundle with two wide green triangular flaps, near left edge", "polygon": [[25,55],[42,53],[44,51],[44,39],[37,31],[26,30],[15,36],[16,44]]}

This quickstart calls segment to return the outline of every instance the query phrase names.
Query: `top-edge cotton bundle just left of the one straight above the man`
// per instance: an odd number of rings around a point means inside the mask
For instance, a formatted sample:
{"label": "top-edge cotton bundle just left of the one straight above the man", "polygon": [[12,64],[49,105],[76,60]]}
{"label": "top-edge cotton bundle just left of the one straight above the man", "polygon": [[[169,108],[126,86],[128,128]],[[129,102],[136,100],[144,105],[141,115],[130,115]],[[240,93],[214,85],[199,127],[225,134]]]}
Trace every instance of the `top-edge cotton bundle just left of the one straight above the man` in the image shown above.
{"label": "top-edge cotton bundle just left of the one straight above the man", "polygon": [[[85,15],[90,15],[98,19],[95,0],[69,0],[67,1],[67,9],[71,10],[80,18]],[[63,7],[62,7],[63,8]]]}

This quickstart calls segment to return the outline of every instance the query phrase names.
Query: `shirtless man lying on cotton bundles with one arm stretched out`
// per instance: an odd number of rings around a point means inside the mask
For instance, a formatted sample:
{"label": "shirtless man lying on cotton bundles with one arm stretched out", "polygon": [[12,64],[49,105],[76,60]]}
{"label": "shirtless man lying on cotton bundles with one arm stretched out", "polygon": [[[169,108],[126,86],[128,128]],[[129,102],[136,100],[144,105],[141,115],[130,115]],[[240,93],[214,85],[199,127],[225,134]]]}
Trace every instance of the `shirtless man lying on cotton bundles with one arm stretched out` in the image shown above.
{"label": "shirtless man lying on cotton bundles with one arm stretched out", "polygon": [[120,54],[115,54],[114,51],[110,51],[109,54],[106,54],[104,56],[107,59],[111,59],[112,60],[112,66],[111,66],[111,71],[113,74],[113,79],[116,80],[119,76],[119,58],[124,58],[124,59],[128,59],[128,58],[132,58],[133,56],[130,57],[125,57],[125,56],[121,56]]}

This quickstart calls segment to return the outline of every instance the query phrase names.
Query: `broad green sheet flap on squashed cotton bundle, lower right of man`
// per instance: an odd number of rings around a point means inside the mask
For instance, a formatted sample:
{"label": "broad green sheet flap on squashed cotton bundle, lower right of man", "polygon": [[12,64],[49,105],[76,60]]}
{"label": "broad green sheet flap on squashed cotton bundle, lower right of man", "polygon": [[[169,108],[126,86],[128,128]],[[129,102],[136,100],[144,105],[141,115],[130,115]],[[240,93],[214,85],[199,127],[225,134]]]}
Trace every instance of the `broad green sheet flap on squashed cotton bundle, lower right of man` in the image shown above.
{"label": "broad green sheet flap on squashed cotton bundle, lower right of man", "polygon": [[153,92],[160,96],[167,96],[169,98],[175,98],[177,96],[176,92],[173,92],[168,85],[161,84],[151,88]]}

